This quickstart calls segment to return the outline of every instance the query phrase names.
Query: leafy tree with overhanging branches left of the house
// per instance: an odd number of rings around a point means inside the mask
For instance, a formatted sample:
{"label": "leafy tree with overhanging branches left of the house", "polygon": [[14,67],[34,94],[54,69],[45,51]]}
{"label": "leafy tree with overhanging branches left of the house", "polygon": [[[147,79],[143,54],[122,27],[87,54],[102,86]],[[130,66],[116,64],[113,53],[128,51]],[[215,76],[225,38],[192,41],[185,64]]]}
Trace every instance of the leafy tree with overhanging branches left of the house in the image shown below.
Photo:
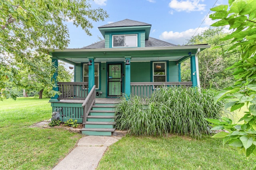
{"label": "leafy tree with overhanging branches left of the house", "polygon": [[[14,73],[19,69],[14,66],[15,63],[21,65],[20,69],[28,68],[38,76],[49,76],[40,70],[40,64],[44,64],[48,57],[46,49],[67,47],[69,34],[66,21],[73,21],[74,25],[91,35],[92,21],[106,17],[106,11],[91,9],[86,0],[0,0],[2,95],[15,98],[7,86],[8,82],[18,85],[18,77]],[[38,52],[35,53],[34,49]],[[52,83],[48,85],[54,86]]]}

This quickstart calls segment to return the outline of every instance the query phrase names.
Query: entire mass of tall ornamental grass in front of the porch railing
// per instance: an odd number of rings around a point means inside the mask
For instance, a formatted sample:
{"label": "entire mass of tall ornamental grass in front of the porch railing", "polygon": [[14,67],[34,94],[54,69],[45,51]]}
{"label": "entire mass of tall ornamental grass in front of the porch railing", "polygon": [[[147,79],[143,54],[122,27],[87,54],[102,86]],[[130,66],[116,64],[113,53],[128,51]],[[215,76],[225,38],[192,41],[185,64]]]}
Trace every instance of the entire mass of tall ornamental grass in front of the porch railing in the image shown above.
{"label": "entire mass of tall ornamental grass in front of the porch railing", "polygon": [[116,107],[116,128],[134,135],[178,133],[200,138],[209,133],[204,118],[219,118],[223,111],[222,102],[214,104],[214,94],[205,89],[161,87],[146,100],[124,96]]}

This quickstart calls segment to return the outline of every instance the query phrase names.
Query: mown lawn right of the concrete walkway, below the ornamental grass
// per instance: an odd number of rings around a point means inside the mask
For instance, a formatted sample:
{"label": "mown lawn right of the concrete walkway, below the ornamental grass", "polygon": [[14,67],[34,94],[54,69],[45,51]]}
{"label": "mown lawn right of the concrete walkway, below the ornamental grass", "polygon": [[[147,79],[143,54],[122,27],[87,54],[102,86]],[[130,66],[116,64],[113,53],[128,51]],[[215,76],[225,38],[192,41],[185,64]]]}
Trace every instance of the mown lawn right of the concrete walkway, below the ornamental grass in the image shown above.
{"label": "mown lawn right of the concrete walkway, below the ornamental grass", "polygon": [[210,137],[123,137],[110,146],[98,170],[254,170],[246,158]]}

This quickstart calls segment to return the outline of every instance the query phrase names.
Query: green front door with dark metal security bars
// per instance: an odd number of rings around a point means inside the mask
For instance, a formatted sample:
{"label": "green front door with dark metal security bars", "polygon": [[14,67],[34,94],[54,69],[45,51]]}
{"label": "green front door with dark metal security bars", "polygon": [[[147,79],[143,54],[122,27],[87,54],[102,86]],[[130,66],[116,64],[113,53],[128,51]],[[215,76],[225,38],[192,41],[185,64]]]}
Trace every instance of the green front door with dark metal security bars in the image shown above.
{"label": "green front door with dark metal security bars", "polygon": [[108,96],[122,93],[122,64],[108,64]]}

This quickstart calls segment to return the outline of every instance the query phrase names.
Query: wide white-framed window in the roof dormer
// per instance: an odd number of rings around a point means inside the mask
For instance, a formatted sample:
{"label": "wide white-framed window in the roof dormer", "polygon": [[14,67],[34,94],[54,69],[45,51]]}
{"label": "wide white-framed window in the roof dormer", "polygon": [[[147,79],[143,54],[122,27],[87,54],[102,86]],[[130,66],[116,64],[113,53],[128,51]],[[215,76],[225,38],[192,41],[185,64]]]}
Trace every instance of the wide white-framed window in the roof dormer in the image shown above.
{"label": "wide white-framed window in the roof dormer", "polygon": [[113,35],[112,47],[138,47],[137,34]]}

